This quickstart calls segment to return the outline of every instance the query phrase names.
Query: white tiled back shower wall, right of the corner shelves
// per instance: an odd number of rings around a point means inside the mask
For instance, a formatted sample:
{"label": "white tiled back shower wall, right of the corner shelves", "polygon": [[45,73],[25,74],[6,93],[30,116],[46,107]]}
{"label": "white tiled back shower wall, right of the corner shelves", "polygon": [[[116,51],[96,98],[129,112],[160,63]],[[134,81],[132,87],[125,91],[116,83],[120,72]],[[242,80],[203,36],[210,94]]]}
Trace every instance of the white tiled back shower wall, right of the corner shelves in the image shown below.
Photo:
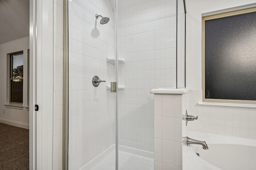
{"label": "white tiled back shower wall, right of the corner shelves", "polygon": [[154,151],[153,88],[176,87],[176,0],[118,10],[119,144]]}

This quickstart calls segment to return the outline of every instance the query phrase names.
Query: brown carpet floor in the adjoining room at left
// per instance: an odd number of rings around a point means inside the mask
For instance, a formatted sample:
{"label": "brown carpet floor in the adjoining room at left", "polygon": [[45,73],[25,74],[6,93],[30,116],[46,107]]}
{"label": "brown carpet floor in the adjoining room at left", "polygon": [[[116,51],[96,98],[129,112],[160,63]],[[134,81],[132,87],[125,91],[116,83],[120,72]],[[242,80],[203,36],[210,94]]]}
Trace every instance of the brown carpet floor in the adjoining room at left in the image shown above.
{"label": "brown carpet floor in the adjoining room at left", "polygon": [[0,170],[29,170],[29,130],[0,123]]}

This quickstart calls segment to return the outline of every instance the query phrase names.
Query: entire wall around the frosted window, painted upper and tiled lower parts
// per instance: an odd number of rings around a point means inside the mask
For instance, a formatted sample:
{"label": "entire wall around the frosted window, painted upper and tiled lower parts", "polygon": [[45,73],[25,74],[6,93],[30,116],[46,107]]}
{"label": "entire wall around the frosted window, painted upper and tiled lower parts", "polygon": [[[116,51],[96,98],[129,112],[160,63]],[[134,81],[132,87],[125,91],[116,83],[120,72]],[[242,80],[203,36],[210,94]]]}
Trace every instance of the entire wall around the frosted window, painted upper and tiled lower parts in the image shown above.
{"label": "entire wall around the frosted window, painted upper and tiled lower parts", "polygon": [[194,131],[204,131],[256,139],[255,108],[227,106],[198,106],[202,102],[201,34],[202,14],[256,3],[255,0],[187,0],[188,31],[188,86],[189,115],[198,115],[198,120],[188,122]]}

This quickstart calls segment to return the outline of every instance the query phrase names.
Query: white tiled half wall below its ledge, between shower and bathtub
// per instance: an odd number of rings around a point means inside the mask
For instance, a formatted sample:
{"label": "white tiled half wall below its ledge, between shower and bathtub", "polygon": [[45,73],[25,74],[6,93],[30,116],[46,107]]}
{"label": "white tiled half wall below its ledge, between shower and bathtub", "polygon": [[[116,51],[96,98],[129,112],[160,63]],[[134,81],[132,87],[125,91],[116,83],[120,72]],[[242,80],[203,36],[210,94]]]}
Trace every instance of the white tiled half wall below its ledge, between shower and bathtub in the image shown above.
{"label": "white tiled half wall below its ledge, between shower and bathtub", "polygon": [[182,170],[182,96],[154,95],[154,170]]}

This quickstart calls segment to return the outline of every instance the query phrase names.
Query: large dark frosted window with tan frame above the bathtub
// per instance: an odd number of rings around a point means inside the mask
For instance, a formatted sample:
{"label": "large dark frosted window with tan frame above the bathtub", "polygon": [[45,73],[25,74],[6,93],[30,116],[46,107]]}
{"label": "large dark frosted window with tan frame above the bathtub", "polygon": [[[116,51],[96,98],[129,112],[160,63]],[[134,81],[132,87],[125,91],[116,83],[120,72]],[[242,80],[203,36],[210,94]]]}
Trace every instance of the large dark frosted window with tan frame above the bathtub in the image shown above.
{"label": "large dark frosted window with tan frame above the bathtub", "polygon": [[203,102],[256,104],[256,8],[202,18]]}

